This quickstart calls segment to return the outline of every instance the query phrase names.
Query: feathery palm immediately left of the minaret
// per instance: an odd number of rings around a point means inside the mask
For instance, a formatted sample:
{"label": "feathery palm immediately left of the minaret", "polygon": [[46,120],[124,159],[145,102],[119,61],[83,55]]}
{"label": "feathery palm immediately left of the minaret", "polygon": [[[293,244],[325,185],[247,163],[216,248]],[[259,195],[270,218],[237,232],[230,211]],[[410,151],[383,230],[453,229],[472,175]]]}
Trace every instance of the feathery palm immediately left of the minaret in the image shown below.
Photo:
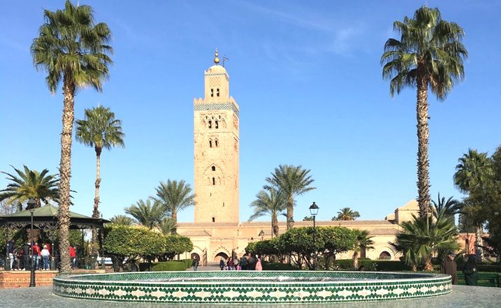
{"label": "feathery palm immediately left of the minaret", "polygon": [[[155,189],[157,196],[153,199],[164,207],[164,212],[177,224],[177,212],[195,204],[195,195],[191,193],[191,186],[184,179],[177,181],[167,180],[167,184],[160,182]],[[176,233],[174,228],[173,233]]]}

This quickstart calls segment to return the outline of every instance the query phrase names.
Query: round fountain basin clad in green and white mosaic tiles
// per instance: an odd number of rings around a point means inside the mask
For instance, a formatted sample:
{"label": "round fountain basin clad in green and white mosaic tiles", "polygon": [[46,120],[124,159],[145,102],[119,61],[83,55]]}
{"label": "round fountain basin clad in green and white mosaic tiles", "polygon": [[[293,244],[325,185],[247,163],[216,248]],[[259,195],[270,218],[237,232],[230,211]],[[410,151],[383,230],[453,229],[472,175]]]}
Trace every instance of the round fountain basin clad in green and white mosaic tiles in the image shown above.
{"label": "round fountain basin clad in green and white mosaic tiles", "polygon": [[57,277],[53,291],[68,298],[118,302],[365,302],[448,294],[451,277],[402,272],[129,272]]}

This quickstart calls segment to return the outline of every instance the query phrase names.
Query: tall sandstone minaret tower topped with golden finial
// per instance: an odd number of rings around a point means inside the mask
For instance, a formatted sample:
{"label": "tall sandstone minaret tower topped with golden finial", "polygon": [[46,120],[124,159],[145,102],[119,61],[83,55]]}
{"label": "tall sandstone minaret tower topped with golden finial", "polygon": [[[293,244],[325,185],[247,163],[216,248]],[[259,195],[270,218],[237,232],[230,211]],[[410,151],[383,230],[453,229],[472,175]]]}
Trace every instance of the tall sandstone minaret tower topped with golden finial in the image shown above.
{"label": "tall sandstone minaret tower topped with golden finial", "polygon": [[194,99],[195,222],[238,223],[238,104],[217,50],[214,63],[204,73],[204,98]]}

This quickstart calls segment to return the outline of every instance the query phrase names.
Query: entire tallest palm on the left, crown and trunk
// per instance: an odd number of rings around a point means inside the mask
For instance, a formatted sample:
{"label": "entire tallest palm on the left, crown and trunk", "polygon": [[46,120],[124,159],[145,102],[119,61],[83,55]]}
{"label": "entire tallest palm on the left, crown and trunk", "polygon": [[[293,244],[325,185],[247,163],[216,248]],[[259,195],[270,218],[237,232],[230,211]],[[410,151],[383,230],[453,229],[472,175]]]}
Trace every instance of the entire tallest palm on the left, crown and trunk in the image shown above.
{"label": "entire tallest palm on the left, crown and trunk", "polygon": [[59,163],[59,250],[61,272],[71,272],[69,256],[71,135],[75,92],[85,87],[102,91],[112,63],[107,45],[111,31],[105,23],[94,24],[90,6],[74,6],[66,1],[63,10],[44,10],[45,23],[34,38],[31,54],[37,69],[46,71],[45,81],[54,94],[62,82],[64,108]]}

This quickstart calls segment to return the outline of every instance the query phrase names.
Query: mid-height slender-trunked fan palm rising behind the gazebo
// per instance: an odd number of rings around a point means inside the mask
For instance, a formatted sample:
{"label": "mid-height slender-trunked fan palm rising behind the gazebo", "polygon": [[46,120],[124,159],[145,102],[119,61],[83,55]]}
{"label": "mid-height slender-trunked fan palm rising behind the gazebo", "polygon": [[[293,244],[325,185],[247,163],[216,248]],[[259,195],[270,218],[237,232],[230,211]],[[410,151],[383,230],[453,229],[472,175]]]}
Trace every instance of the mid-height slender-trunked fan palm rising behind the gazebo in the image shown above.
{"label": "mid-height slender-trunked fan palm rising behind the gazebo", "polygon": [[[115,119],[115,113],[110,108],[98,106],[85,109],[85,118],[76,121],[76,140],[96,151],[96,182],[94,184],[94,208],[92,218],[99,218],[99,187],[101,186],[101,152],[112,147],[124,147],[122,122]],[[97,230],[92,228],[92,255],[97,256]],[[97,258],[94,258],[97,262]]]}

